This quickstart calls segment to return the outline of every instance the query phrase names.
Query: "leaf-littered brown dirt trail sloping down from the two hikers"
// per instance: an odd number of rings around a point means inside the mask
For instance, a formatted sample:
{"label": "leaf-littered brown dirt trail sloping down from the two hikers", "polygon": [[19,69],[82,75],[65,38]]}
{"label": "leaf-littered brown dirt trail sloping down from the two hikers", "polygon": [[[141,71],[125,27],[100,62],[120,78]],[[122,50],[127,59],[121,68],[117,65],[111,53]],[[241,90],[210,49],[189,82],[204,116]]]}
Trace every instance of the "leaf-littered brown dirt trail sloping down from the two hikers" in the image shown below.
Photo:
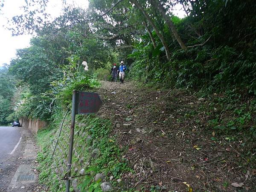
{"label": "leaf-littered brown dirt trail sloping down from the two hikers", "polygon": [[[207,99],[132,82],[102,81],[98,91],[104,102],[100,115],[113,122],[120,148],[128,146],[125,157],[135,170],[122,176],[128,189],[188,191],[186,182],[200,192],[256,191],[255,176],[241,169],[238,162],[245,162],[238,151],[221,135],[211,139],[207,121],[214,111]],[[234,182],[243,186],[231,186]]]}

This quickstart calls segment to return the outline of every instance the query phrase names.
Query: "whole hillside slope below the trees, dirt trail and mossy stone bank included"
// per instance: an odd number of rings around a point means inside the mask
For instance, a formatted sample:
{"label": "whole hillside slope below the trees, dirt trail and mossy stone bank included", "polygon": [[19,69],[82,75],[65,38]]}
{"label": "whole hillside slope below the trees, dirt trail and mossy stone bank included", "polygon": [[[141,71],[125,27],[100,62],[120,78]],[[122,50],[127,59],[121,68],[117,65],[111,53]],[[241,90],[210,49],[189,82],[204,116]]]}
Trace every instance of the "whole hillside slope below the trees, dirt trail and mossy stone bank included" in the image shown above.
{"label": "whole hillside slope below the trees, dirt trail and mossy stone bank included", "polygon": [[[77,116],[71,172],[90,175],[72,179],[72,189],[101,190],[94,176],[102,173],[113,191],[187,191],[183,182],[202,192],[256,190],[254,98],[235,93],[202,97],[133,82],[102,81],[94,91],[104,105],[96,116]],[[70,117],[53,163],[48,145],[53,148],[55,142],[44,141],[56,141],[58,129],[38,135],[43,149],[38,170],[50,190],[64,190],[69,125]]]}

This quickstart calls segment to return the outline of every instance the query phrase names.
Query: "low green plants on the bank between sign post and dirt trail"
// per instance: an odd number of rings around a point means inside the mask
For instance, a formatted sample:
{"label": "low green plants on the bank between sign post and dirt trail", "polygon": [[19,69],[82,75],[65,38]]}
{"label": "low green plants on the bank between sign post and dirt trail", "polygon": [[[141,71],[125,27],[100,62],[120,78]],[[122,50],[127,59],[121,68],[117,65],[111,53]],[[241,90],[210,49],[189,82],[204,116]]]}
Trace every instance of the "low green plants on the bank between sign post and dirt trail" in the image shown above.
{"label": "low green plants on the bank between sign post and dirt trail", "polygon": [[103,172],[105,175],[113,175],[114,178],[119,178],[123,172],[131,171],[128,168],[128,160],[121,158],[122,151],[117,145],[115,137],[108,137],[112,130],[110,121],[87,116],[84,123],[87,125],[85,130],[91,136],[91,141],[96,141],[93,147],[100,151],[99,158],[92,160],[93,166],[88,171]]}

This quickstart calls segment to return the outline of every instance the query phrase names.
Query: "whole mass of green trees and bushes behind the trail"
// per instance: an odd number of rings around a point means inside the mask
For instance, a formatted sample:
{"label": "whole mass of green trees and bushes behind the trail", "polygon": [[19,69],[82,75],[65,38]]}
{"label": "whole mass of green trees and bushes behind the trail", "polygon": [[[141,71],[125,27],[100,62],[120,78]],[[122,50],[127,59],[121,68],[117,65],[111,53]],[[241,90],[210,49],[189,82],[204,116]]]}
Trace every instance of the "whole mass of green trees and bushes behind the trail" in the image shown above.
{"label": "whole mass of green trees and bushes behind the trail", "polygon": [[[172,15],[176,4],[186,17]],[[49,120],[70,105],[72,89],[98,86],[96,78],[108,79],[121,60],[131,79],[149,85],[256,94],[253,0],[90,0],[87,9],[65,6],[51,21],[46,6],[47,0],[27,1],[24,13],[9,20],[14,35],[36,35],[11,61],[15,83],[1,79],[3,86],[23,87],[6,98],[18,107],[2,122],[14,116]]]}

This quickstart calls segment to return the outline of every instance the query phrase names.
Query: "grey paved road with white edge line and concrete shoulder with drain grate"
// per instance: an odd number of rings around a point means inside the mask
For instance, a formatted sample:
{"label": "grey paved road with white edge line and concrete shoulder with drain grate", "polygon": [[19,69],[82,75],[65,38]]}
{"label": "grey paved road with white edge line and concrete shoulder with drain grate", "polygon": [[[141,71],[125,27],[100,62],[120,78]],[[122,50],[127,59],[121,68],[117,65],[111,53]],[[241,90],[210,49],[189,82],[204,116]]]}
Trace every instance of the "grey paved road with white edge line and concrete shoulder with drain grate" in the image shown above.
{"label": "grey paved road with white edge line and concrete shoulder with drain grate", "polygon": [[0,192],[37,191],[35,137],[24,127],[0,127]]}

